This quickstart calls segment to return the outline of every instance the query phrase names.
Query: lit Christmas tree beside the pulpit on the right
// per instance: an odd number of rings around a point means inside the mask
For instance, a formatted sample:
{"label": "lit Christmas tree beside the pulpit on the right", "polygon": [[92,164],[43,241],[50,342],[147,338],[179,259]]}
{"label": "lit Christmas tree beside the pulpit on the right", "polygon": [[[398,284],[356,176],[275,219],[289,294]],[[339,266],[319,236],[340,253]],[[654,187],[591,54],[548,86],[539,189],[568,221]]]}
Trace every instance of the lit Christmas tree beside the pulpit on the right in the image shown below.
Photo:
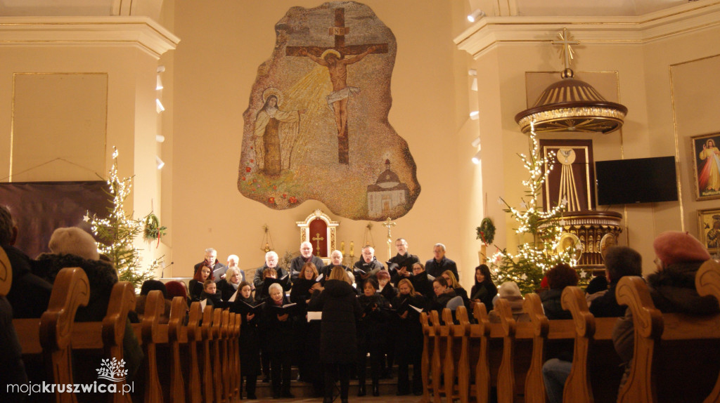
{"label": "lit Christmas tree beside the pulpit on the right", "polygon": [[[527,189],[521,198],[520,208],[514,208],[503,198],[498,198],[498,203],[506,207],[503,209],[505,213],[510,213],[517,221],[518,227],[514,229],[521,239],[518,253],[510,254],[507,249],[498,249],[488,262],[498,284],[516,282],[523,294],[536,292],[548,269],[559,263],[575,265],[572,251],[558,251],[557,247],[562,235],[562,212],[567,201],[562,200],[560,205],[543,210],[538,200],[547,175],[552,170],[549,162],[552,162],[555,154],[551,152],[547,157],[541,157],[534,127],[531,128],[529,142],[530,155],[518,154],[530,173],[530,178],[523,180],[523,186]],[[544,166],[547,167],[546,172],[543,172]]]}

